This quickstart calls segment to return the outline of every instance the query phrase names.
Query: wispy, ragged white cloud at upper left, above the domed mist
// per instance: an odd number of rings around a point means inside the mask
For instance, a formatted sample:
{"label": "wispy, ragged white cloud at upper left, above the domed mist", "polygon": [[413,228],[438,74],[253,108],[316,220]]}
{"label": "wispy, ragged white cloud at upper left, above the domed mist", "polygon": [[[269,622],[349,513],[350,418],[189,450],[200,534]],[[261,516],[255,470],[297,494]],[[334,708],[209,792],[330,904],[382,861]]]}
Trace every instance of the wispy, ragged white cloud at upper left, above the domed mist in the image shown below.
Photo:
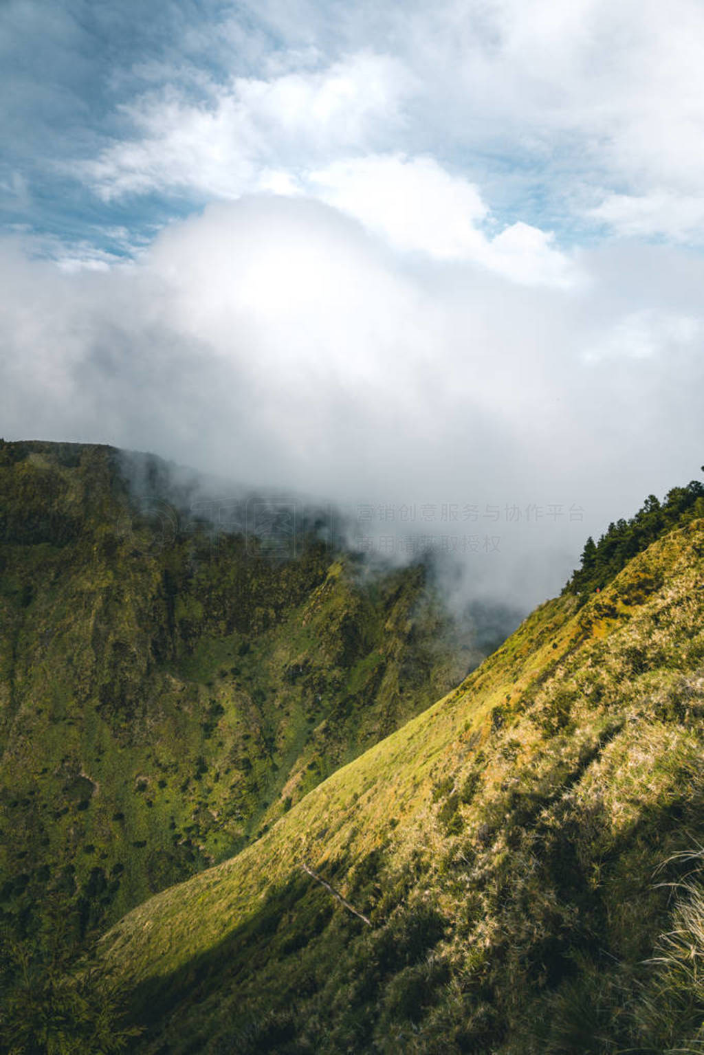
{"label": "wispy, ragged white cloud at upper left, above the domed mist", "polygon": [[366,52],[322,70],[213,83],[208,104],[167,88],[122,107],[140,137],[79,171],[106,199],[173,189],[239,197],[262,186],[268,170],[374,143],[398,120],[407,88],[396,59]]}

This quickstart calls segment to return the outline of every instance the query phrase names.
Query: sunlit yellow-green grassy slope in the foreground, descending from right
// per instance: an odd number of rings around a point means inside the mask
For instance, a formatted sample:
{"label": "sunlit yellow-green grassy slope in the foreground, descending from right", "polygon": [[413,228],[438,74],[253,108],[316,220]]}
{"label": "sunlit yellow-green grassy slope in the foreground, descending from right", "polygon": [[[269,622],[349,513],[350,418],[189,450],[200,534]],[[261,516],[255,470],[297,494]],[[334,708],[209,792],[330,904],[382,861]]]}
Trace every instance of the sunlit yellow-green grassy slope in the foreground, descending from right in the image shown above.
{"label": "sunlit yellow-green grassy slope in the foreground, descending from right", "polygon": [[703,557],[696,520],[584,607],[548,601],[258,842],[122,919],[104,956],[144,1050],[688,1041],[704,1004],[663,999],[644,960],[670,912],[654,871],[704,839]]}

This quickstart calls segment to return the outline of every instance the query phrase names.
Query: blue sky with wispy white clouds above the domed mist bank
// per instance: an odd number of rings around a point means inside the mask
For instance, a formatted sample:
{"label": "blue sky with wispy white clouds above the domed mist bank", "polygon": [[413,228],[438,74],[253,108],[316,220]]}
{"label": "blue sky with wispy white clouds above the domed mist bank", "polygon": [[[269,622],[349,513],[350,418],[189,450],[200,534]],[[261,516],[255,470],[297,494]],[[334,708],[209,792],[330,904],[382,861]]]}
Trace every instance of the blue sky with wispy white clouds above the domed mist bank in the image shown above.
{"label": "blue sky with wispy white clouds above the domed mist bank", "polygon": [[422,158],[416,192],[439,173],[476,189],[489,234],[699,247],[703,41],[691,0],[7,0],[2,218],[87,258],[252,192],[334,198],[375,226],[361,161],[402,177]]}

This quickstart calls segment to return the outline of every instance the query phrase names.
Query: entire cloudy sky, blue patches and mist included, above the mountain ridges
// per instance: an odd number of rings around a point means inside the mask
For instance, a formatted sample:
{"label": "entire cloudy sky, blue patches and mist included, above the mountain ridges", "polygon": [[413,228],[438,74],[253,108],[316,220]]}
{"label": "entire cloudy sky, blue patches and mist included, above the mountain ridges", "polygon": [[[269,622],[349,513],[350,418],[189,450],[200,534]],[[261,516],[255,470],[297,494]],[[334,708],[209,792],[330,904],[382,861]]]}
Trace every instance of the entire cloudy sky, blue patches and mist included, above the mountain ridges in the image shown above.
{"label": "entire cloudy sky, blue patches and mist included, above the mountain ridges", "polygon": [[527,605],[698,475],[695,0],[8,0],[0,70],[5,437],[372,503]]}

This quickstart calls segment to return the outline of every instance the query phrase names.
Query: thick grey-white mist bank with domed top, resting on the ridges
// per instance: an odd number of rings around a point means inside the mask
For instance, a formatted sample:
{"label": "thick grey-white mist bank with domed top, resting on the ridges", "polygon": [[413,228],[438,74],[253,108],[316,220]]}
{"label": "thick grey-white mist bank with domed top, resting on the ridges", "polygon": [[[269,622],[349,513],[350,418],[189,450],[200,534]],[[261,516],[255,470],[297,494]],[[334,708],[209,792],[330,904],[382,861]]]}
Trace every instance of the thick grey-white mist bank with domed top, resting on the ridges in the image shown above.
{"label": "thick grey-white mist bank with domed top, resting on the ridges", "polygon": [[569,290],[399,266],[329,206],[262,196],[209,206],[107,272],[5,245],[4,431],[32,421],[35,437],[312,495],[370,549],[398,559],[425,535],[528,609],[587,535],[701,460],[701,262],[579,260],[588,281]]}

